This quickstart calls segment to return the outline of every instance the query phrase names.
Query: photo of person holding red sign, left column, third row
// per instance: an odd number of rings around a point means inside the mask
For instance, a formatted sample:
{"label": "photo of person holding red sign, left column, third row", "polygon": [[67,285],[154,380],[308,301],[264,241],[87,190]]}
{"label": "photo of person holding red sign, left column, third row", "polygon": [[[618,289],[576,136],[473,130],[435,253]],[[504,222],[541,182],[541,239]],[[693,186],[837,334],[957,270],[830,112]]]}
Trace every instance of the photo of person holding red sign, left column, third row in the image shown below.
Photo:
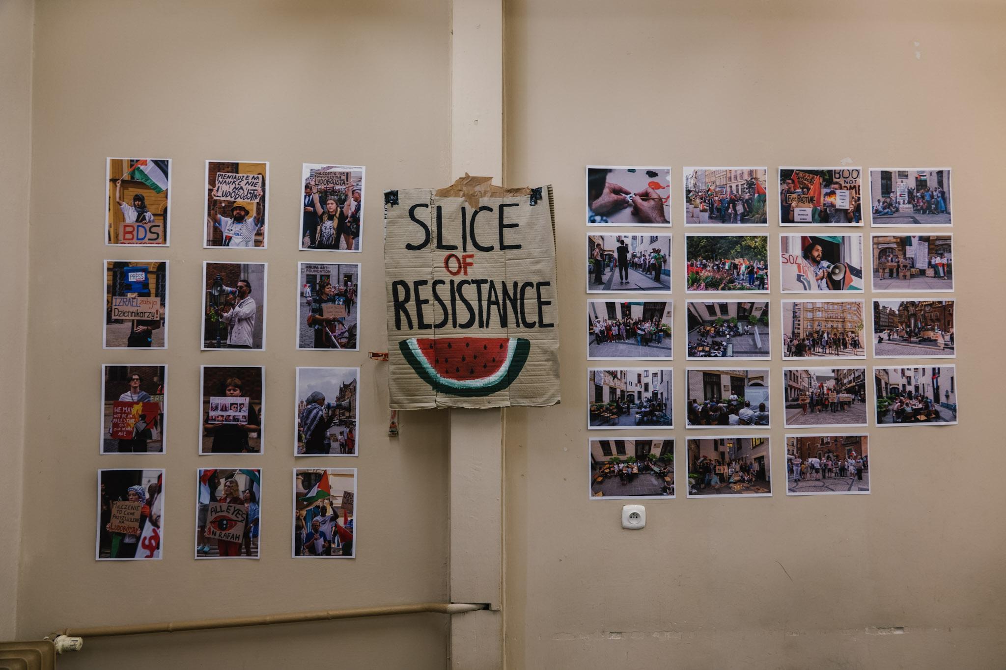
{"label": "photo of person holding red sign, left column, third row", "polygon": [[166,368],[102,366],[103,454],[164,451]]}

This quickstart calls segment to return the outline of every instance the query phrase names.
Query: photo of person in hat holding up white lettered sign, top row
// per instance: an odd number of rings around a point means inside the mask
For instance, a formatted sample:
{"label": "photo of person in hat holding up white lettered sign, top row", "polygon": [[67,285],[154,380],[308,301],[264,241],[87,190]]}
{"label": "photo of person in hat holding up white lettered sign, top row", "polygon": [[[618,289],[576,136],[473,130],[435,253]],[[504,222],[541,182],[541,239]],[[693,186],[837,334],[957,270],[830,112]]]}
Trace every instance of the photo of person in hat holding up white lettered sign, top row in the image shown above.
{"label": "photo of person in hat holding up white lettered sign, top row", "polygon": [[203,247],[266,248],[269,163],[206,161]]}

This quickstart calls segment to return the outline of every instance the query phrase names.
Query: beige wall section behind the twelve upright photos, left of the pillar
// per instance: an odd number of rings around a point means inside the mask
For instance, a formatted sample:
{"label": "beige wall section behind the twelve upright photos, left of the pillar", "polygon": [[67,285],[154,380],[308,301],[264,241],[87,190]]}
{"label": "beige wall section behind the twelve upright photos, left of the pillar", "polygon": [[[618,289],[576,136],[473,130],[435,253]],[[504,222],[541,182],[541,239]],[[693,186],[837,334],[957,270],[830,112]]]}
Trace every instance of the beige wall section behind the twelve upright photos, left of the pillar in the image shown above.
{"label": "beige wall section behind the twelve upright photos, left of the pillar", "polygon": [[[446,415],[409,415],[400,439],[387,438],[386,371],[367,351],[385,347],[381,192],[450,177],[447,4],[46,0],[36,19],[29,297],[47,307],[29,319],[18,636],[446,601]],[[221,71],[231,65],[239,66]],[[138,155],[173,159],[168,249],[103,243],[105,158]],[[203,162],[229,158],[271,161],[268,250],[202,248]],[[364,251],[352,258],[297,251],[301,163],[326,161],[367,167]],[[23,174],[26,161],[15,165]],[[23,240],[5,234],[4,248],[23,253]],[[101,266],[117,257],[170,261],[167,351],[102,351]],[[199,351],[203,259],[269,263],[265,354]],[[360,352],[295,351],[302,260],[363,263]],[[167,453],[100,456],[100,366],[137,361],[168,365]],[[266,366],[265,453],[199,457],[199,365],[244,362]],[[326,461],[359,468],[355,561],[290,559],[299,365],[362,371],[360,457]],[[196,565],[195,470],[234,464],[263,468],[262,559]],[[167,469],[164,560],[96,563],[96,470],[142,466]],[[314,649],[319,661],[342,667],[441,668],[447,626],[443,616],[422,616],[94,641],[60,666],[126,667],[142,658],[159,668],[292,667]],[[153,651],[141,654],[145,645]]]}

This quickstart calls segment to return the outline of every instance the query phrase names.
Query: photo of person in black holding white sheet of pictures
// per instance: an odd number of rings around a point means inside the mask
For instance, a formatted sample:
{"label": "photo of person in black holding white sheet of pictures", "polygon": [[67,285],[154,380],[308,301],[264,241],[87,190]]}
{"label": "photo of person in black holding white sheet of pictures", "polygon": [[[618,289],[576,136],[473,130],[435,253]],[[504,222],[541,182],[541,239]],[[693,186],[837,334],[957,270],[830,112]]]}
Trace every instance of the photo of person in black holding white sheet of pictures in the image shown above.
{"label": "photo of person in black holding white sheet of pictures", "polygon": [[259,366],[202,366],[200,454],[262,452],[263,385]]}

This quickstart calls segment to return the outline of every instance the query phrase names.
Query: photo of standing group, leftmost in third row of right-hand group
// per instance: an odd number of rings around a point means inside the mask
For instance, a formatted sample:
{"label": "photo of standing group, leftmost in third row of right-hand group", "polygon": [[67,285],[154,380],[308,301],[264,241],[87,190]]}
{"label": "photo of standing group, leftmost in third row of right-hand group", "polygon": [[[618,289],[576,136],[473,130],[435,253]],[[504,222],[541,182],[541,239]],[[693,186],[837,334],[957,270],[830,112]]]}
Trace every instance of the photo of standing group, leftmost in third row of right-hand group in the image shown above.
{"label": "photo of standing group, leftmost in third row of right-hand group", "polygon": [[586,358],[671,360],[674,302],[586,301]]}

